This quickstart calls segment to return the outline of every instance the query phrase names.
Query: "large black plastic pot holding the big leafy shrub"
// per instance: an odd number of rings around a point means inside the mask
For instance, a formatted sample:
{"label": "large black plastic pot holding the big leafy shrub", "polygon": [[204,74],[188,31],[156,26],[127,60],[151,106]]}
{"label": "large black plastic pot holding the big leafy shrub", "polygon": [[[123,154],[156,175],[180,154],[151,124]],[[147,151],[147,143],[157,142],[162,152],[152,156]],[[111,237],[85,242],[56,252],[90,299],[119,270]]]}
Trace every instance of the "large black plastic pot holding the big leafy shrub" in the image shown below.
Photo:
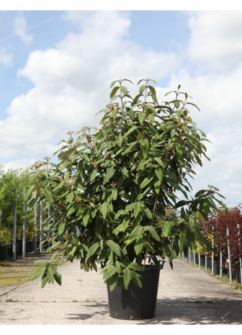
{"label": "large black plastic pot holding the big leafy shrub", "polygon": [[110,292],[110,283],[108,281],[108,308],[110,317],[123,320],[154,318],[159,276],[163,264],[158,268],[145,269],[145,271],[140,273],[143,276],[143,288],[138,288],[138,286],[130,282],[128,290],[116,286]]}

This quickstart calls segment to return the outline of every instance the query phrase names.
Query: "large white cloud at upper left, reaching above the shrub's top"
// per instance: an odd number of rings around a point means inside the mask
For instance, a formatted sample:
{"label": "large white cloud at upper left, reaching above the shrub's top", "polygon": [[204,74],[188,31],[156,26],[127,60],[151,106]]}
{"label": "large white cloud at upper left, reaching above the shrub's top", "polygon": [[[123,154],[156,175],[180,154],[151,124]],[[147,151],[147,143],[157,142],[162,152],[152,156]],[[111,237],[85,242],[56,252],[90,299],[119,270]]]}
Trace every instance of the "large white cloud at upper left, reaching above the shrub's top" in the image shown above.
{"label": "large white cloud at upper left, reaching above the shrub's top", "polygon": [[145,51],[128,40],[126,14],[88,15],[81,32],[69,34],[55,49],[33,51],[19,70],[18,76],[35,87],[16,97],[7,110],[8,119],[1,121],[2,159],[12,159],[16,152],[49,156],[69,130],[97,126],[100,116],[95,114],[109,102],[114,79],[126,77],[136,84],[147,75],[160,79],[176,70],[178,62],[172,53]]}

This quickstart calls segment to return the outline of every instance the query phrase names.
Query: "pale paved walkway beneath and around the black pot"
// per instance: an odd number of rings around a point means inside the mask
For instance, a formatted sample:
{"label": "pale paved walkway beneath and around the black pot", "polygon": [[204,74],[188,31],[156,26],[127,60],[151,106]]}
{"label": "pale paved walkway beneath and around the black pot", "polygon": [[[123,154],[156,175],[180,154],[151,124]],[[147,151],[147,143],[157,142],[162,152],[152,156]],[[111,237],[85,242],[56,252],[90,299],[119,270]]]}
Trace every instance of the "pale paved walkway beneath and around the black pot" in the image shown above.
{"label": "pale paved walkway beneath and around the black pot", "polygon": [[[59,268],[62,286],[40,279],[0,288],[0,325],[242,325],[242,292],[183,262],[160,271],[154,319],[125,321],[108,313],[101,275],[80,270],[80,263]],[[6,295],[8,291],[8,295]]]}

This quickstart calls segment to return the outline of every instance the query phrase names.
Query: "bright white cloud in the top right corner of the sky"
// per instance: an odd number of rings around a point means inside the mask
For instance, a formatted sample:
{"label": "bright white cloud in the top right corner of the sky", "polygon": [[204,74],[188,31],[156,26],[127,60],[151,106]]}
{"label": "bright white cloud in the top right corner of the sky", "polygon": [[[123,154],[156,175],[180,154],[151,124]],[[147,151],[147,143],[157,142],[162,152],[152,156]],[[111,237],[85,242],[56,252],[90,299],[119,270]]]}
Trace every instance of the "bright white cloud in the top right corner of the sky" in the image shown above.
{"label": "bright white cloud in the top right corner of the sky", "polygon": [[230,70],[241,64],[242,11],[191,12],[189,55],[209,70]]}

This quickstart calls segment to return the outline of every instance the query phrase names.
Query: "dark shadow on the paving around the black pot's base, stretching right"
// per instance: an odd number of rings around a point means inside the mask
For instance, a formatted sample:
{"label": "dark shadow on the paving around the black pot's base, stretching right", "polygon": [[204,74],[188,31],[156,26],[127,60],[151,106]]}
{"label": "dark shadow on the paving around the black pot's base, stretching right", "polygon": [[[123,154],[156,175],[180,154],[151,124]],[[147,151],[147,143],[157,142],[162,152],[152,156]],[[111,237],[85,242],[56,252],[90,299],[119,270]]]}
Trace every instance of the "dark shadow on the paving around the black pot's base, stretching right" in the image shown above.
{"label": "dark shadow on the paving around the black pot's base, stretching right", "polygon": [[[108,324],[110,318],[107,303],[86,304],[88,314],[68,314],[66,319],[86,320],[97,314],[105,315]],[[112,319],[113,321],[114,319]],[[158,299],[154,319],[128,321],[138,325],[241,325],[242,300],[208,299],[208,297]],[[117,320],[117,324],[119,321]]]}

